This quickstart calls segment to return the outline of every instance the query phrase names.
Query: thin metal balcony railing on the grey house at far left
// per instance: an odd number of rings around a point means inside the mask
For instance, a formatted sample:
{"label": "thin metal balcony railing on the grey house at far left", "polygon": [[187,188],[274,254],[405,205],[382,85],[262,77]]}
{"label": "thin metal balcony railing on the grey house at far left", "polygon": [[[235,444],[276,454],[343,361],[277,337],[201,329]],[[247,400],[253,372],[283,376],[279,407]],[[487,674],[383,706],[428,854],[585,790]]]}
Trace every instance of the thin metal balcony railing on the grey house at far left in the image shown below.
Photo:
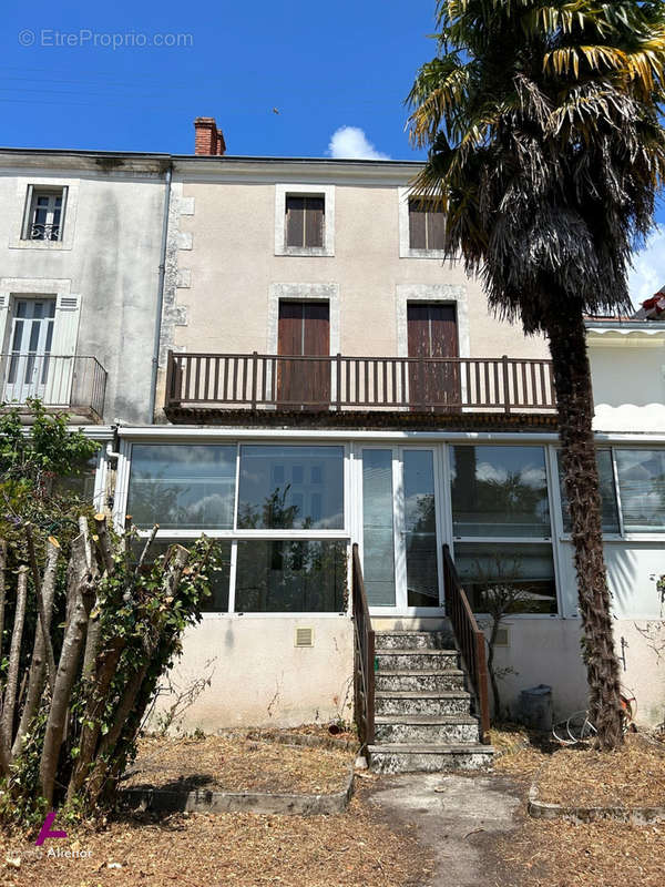
{"label": "thin metal balcony railing on the grey house at far left", "polygon": [[[7,405],[39,398],[81,422],[101,422],[106,370],[94,357],[52,354],[0,355],[0,400]],[[27,409],[27,412],[29,410]]]}

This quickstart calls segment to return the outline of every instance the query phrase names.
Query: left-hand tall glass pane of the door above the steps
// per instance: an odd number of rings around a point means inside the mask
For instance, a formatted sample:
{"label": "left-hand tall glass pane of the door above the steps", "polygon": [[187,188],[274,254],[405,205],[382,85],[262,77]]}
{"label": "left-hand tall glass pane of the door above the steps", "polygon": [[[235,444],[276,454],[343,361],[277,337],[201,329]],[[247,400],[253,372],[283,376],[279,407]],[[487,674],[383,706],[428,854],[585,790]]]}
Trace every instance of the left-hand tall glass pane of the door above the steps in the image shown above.
{"label": "left-hand tall glass pane of the door above the steps", "polygon": [[392,450],[362,450],[362,573],[370,606],[395,606]]}

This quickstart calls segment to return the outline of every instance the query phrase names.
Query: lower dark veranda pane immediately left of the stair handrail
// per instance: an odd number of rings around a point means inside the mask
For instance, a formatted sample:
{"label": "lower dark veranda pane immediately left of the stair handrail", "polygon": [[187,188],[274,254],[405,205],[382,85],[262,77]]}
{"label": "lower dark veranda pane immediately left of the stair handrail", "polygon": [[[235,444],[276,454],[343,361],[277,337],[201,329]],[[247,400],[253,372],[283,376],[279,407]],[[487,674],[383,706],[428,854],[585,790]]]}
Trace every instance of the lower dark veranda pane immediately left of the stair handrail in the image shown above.
{"label": "lower dark veranda pane immediately left of the stair handrail", "polygon": [[347,588],[346,542],[238,542],[238,613],[341,613]]}

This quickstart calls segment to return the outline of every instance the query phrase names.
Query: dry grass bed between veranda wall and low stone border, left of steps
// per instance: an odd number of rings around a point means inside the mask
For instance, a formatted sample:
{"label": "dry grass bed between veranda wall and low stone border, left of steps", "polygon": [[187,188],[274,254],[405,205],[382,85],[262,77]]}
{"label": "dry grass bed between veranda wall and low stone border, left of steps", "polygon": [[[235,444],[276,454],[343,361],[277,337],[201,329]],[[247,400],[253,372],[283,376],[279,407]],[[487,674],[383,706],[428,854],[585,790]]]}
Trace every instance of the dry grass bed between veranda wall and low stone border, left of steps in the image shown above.
{"label": "dry grass bed between veranda wall and low stone border, left of steps", "polygon": [[123,786],[328,794],[346,786],[351,763],[341,750],[284,745],[246,735],[145,736]]}

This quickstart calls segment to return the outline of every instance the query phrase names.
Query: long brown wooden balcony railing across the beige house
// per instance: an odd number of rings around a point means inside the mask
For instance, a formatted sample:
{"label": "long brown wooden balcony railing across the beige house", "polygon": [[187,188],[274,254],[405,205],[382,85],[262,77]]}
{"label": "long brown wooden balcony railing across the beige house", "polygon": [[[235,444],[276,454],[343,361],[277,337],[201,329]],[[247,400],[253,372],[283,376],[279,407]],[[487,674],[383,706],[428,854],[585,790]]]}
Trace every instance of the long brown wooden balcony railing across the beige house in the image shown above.
{"label": "long brown wooden balcony railing across the beige house", "polygon": [[555,412],[550,360],[168,353],[168,408]]}

